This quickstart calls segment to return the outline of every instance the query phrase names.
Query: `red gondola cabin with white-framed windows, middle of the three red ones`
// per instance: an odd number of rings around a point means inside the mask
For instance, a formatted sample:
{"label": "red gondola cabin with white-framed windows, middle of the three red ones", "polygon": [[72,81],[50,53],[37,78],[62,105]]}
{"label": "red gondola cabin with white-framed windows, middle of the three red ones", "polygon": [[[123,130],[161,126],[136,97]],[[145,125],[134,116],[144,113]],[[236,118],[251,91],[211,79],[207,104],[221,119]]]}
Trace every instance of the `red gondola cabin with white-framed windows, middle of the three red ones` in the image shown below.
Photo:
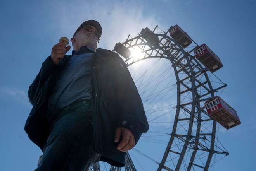
{"label": "red gondola cabin with white-framed windows, middle of the three red ones", "polygon": [[194,50],[195,58],[199,60],[204,66],[208,68],[209,71],[214,72],[221,67],[223,67],[220,58],[211,51],[211,49],[206,46],[206,44],[202,44]]}

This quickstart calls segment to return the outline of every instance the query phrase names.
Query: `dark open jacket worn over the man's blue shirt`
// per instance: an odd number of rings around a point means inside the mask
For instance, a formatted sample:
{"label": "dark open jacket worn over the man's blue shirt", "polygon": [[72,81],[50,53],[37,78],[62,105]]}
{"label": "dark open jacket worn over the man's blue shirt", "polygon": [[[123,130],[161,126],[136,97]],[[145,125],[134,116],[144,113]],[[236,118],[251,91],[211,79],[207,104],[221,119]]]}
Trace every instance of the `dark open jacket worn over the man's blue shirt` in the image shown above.
{"label": "dark open jacket worn over the man's blue shirt", "polygon": [[[57,66],[49,65],[49,56],[29,87],[28,97],[33,108],[25,131],[41,150],[49,130],[46,119],[48,97],[69,57],[66,55],[64,62]],[[100,160],[113,166],[124,166],[125,153],[116,150],[117,143],[114,143],[115,129],[128,128],[137,143],[149,125],[130,72],[119,55],[110,50],[97,49],[93,56],[92,114],[95,149],[102,155]]]}

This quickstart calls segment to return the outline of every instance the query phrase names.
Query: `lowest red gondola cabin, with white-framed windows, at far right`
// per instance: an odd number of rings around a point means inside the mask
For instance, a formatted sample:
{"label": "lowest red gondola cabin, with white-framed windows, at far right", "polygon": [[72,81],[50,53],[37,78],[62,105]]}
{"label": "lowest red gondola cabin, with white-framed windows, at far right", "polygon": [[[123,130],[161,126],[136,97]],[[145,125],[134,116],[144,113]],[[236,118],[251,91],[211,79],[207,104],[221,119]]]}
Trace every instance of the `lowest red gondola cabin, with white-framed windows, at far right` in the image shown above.
{"label": "lowest red gondola cabin, with white-framed windows, at far right", "polygon": [[215,96],[204,103],[207,113],[226,129],[235,127],[241,123],[237,112],[219,96]]}

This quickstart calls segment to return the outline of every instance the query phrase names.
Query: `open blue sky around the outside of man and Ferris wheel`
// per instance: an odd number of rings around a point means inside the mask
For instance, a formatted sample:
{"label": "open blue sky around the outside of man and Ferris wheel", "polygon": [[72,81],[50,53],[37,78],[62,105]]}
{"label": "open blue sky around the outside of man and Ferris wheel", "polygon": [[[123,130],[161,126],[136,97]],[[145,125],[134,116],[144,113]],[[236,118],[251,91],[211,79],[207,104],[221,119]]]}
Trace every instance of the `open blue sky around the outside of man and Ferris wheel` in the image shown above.
{"label": "open blue sky around the outside of man and Ferris wheel", "polygon": [[[28,87],[59,38],[70,39],[88,19],[102,25],[100,48],[112,50],[115,43],[124,42],[129,34],[136,36],[145,27],[158,25],[166,30],[175,24],[198,44],[207,44],[224,65],[214,73],[228,85],[221,97],[242,122],[227,131],[220,129],[218,139],[230,155],[211,170],[256,170],[255,1],[11,0],[1,2],[0,8],[0,170],[36,168],[42,152],[24,132],[32,108]],[[146,148],[152,150],[151,146]]]}

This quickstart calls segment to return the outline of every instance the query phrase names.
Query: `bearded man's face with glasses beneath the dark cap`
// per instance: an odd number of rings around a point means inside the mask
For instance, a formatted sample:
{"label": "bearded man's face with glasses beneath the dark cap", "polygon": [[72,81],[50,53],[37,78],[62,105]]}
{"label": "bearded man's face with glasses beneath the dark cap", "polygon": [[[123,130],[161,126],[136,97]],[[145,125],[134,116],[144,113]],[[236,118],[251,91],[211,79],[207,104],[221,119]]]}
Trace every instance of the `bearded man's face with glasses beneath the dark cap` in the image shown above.
{"label": "bearded man's face with glasses beneath the dark cap", "polygon": [[97,49],[98,33],[93,26],[83,26],[71,39],[74,49],[79,50],[81,46],[90,46],[94,50]]}

